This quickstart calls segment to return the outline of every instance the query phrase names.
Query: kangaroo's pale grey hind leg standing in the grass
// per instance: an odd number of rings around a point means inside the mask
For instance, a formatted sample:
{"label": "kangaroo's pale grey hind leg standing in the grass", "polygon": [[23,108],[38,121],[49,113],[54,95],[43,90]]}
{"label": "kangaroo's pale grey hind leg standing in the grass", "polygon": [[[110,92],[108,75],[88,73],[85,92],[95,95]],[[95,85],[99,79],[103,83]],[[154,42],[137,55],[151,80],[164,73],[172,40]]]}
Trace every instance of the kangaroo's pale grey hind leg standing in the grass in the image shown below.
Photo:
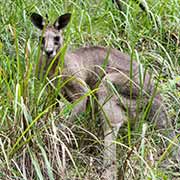
{"label": "kangaroo's pale grey hind leg standing in the grass", "polygon": [[[107,74],[98,91],[98,100],[101,108],[104,130],[104,168],[103,178],[106,180],[117,180],[116,166],[116,144],[115,140],[126,119],[124,110],[120,107],[118,97],[111,90],[109,82],[114,82],[116,76]],[[107,81],[108,80],[108,81]],[[110,85],[110,86],[109,86]]]}

